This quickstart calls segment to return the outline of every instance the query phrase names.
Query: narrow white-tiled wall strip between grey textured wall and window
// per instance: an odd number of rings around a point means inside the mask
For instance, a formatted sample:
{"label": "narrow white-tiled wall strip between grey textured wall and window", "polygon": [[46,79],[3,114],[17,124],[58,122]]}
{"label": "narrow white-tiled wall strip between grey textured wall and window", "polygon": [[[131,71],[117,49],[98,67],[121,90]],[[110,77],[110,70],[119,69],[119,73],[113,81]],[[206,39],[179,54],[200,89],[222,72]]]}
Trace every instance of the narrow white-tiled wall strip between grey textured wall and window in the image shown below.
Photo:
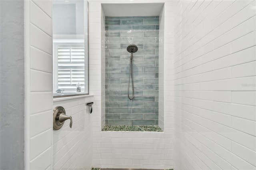
{"label": "narrow white-tiled wall strip between grey textured wall and window", "polygon": [[[25,168],[52,164],[52,3],[25,1]],[[40,61],[40,62],[39,62]]]}

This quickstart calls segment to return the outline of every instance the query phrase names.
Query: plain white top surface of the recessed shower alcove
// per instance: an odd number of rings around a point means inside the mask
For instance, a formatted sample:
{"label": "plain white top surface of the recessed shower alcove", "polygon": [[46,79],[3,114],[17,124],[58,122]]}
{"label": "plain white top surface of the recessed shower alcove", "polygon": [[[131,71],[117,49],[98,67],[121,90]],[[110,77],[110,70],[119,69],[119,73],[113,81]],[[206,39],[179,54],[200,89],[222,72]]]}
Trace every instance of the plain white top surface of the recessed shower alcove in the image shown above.
{"label": "plain white top surface of the recessed shower alcove", "polygon": [[105,16],[159,16],[164,3],[102,4]]}

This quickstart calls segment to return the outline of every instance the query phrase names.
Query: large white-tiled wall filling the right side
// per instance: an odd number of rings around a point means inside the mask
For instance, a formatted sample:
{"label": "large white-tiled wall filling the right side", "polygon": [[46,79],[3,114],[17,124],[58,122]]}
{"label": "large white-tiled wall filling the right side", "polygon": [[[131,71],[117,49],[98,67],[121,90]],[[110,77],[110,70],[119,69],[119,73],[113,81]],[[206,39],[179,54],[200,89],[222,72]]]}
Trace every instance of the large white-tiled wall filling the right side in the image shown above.
{"label": "large white-tiled wall filling the right side", "polygon": [[256,2],[174,7],[174,169],[256,169]]}

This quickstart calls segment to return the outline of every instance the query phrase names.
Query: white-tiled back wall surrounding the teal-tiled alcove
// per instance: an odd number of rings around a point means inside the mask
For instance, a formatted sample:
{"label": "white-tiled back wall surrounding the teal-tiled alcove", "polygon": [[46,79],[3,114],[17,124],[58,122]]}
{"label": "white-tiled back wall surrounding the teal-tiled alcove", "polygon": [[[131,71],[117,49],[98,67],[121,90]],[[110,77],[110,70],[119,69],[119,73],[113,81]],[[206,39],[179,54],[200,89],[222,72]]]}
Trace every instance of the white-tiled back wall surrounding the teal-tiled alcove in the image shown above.
{"label": "white-tiled back wall surrounding the teal-tiled alcove", "polygon": [[[90,43],[90,76],[93,80],[93,86],[90,88],[94,94],[95,109],[92,114],[93,126],[93,156],[92,166],[101,168],[173,168],[173,145],[172,145],[172,112],[168,111],[164,114],[164,132],[101,132],[101,113],[104,113],[105,108],[101,107],[104,96],[101,93],[101,87],[104,82],[101,82],[101,74],[104,73],[101,53],[102,44],[105,42],[104,34],[101,34],[104,27],[104,11],[102,12],[101,3],[108,3],[109,1],[89,1],[89,43]],[[115,3],[128,3],[130,1],[115,1]],[[138,2],[164,2],[164,1],[136,1]],[[166,20],[165,16],[171,15],[170,2],[165,3],[164,20],[166,23],[162,31],[168,34],[166,28],[170,28],[172,23]],[[113,9],[114,10],[114,9]],[[102,14],[102,16],[101,16]],[[160,16],[161,18],[161,16]],[[160,19],[161,20],[161,19]],[[160,28],[161,30],[161,28]],[[163,35],[163,33],[160,33]],[[170,39],[170,35],[166,40]],[[171,41],[166,41],[171,43]],[[166,45],[166,44],[165,44]],[[103,45],[105,47],[105,45]],[[162,53],[167,54],[165,68],[168,68],[171,58],[171,50],[162,49]],[[165,62],[162,61],[165,64]],[[162,66],[163,67],[163,66]],[[100,70],[100,71],[98,71]],[[167,78],[168,74],[164,75]],[[90,82],[92,82],[90,81]],[[170,89],[170,88],[169,88]],[[164,102],[172,99],[171,89],[166,91]],[[168,107],[171,107],[170,105]],[[166,108],[168,108],[166,107]],[[164,108],[165,109],[165,108]]]}

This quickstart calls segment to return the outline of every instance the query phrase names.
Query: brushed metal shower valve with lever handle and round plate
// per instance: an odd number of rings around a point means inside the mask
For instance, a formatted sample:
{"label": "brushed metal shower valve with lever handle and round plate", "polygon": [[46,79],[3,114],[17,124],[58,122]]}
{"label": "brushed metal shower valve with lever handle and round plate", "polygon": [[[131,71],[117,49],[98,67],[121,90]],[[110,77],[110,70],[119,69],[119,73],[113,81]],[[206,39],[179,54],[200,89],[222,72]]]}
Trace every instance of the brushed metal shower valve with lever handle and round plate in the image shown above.
{"label": "brushed metal shower valve with lever handle and round plate", "polygon": [[69,127],[72,128],[72,117],[66,115],[66,111],[63,107],[55,107],[53,110],[53,129],[60,129],[63,126],[64,121],[68,119],[70,119]]}

